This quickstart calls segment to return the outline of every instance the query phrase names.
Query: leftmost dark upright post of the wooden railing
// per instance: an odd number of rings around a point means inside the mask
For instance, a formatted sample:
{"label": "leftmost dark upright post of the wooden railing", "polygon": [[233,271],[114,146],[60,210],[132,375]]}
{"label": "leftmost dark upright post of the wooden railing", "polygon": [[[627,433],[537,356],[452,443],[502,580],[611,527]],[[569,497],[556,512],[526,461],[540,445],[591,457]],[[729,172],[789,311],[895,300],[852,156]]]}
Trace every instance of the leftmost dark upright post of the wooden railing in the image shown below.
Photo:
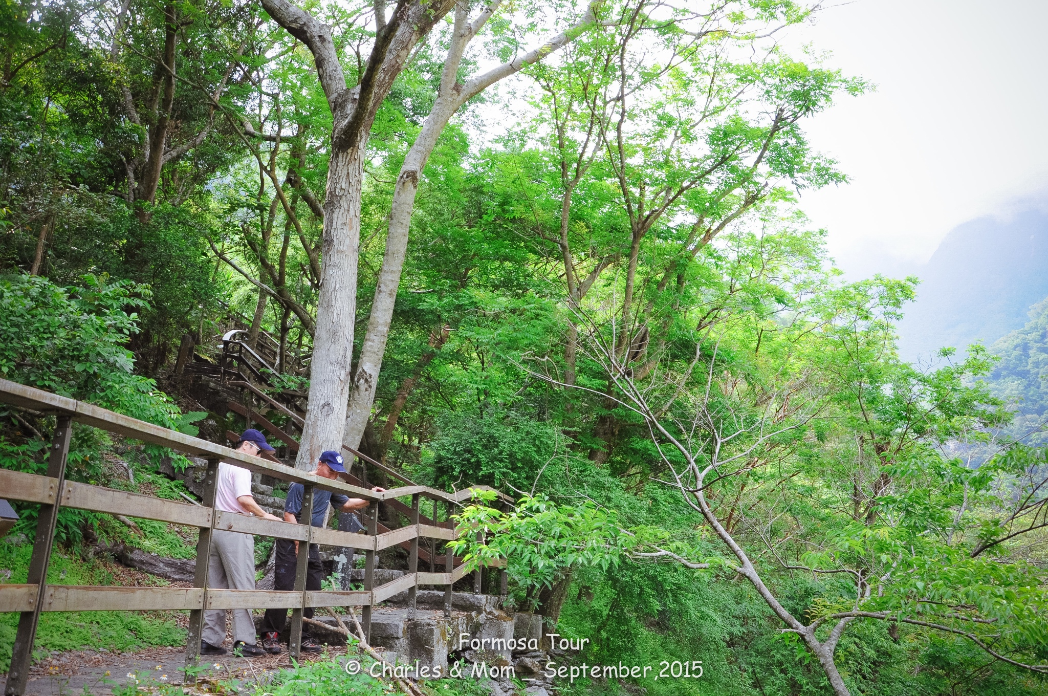
{"label": "leftmost dark upright post of the wooden railing", "polygon": [[29,561],[29,574],[26,583],[37,585],[37,601],[32,611],[23,611],[18,618],[18,634],[12,648],[10,669],[7,672],[7,686],[4,694],[21,696],[25,693],[26,680],[29,678],[29,661],[32,658],[32,643],[37,637],[37,626],[40,623],[40,610],[44,606],[44,594],[47,588],[47,564],[51,559],[51,543],[54,539],[54,526],[59,518],[59,502],[62,499],[62,484],[65,481],[66,460],[69,458],[69,437],[72,434],[72,416],[60,413],[56,417],[54,436],[51,438],[51,451],[47,457],[47,476],[58,479],[54,490],[54,503],[41,503],[37,517],[37,538],[32,543],[32,558]]}

